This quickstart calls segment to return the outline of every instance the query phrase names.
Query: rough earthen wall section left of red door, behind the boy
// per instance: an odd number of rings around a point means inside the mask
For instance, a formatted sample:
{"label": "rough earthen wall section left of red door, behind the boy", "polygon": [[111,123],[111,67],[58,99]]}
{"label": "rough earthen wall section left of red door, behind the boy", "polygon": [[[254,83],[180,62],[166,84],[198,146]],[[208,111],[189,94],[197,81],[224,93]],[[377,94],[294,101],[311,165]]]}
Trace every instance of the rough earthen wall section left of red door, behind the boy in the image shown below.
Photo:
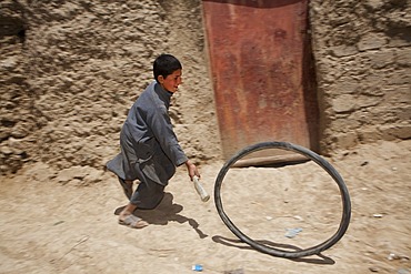
{"label": "rough earthen wall section left of red door, behind the boy", "polygon": [[182,146],[197,162],[220,156],[200,1],[0,4],[2,173],[28,160],[101,168],[163,52],[183,64],[171,106]]}

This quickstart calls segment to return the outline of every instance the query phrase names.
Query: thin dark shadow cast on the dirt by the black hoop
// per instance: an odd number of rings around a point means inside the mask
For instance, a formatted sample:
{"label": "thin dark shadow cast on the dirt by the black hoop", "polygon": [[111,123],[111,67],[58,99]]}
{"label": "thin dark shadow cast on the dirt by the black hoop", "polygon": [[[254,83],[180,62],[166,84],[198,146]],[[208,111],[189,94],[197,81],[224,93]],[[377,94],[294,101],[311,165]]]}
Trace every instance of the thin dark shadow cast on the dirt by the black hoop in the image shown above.
{"label": "thin dark shadow cast on the dirt by the black hoop", "polygon": [[[251,247],[250,245],[248,245],[247,243],[240,241],[240,240],[237,240],[237,239],[228,239],[228,237],[223,237],[223,236],[220,236],[220,235],[215,235],[212,237],[212,241],[218,243],[218,244],[222,244],[222,245],[227,245],[227,246],[231,246],[231,247],[237,247],[237,248],[240,248],[240,250],[254,250],[253,247]],[[254,241],[255,243],[259,243],[259,244],[262,244],[262,245],[265,245],[268,247],[274,247],[274,248],[287,248],[287,250],[293,250],[293,251],[301,251],[300,247],[297,247],[297,246],[293,246],[293,245],[289,245],[289,244],[279,244],[279,243],[273,243],[273,242],[270,242],[270,241],[267,241],[267,240],[257,240]],[[260,252],[260,251],[257,251],[254,250],[255,252]],[[262,253],[262,252],[260,252]],[[265,255],[269,255],[269,254],[265,254]],[[271,255],[269,255],[271,256]],[[290,261],[293,261],[293,262],[300,262],[300,263],[309,263],[309,264],[328,264],[328,265],[332,265],[332,264],[335,264],[335,261],[333,261],[332,258],[328,257],[328,256],[324,256],[322,255],[321,253],[317,254],[317,255],[312,255],[312,256],[308,256],[308,257],[298,257],[298,258],[287,258],[287,260],[290,260]]]}

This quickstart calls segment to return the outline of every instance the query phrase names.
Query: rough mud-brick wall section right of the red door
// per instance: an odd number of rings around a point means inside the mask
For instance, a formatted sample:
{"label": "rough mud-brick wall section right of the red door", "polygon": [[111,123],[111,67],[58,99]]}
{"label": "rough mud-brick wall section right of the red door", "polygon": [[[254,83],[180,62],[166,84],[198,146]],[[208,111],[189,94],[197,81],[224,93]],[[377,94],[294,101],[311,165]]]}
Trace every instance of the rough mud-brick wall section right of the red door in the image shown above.
{"label": "rough mud-brick wall section right of the red door", "polygon": [[323,153],[411,138],[407,0],[310,1]]}

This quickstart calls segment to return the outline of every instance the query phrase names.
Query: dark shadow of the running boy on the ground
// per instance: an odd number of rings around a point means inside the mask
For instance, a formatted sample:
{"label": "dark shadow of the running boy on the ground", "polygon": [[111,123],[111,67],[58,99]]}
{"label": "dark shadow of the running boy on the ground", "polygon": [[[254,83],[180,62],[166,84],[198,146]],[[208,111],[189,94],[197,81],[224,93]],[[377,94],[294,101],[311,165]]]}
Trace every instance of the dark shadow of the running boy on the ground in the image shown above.
{"label": "dark shadow of the running boy on the ground", "polygon": [[[173,195],[169,192],[164,193],[164,197],[160,204],[153,210],[139,210],[134,211],[134,215],[143,219],[149,224],[167,225],[170,221],[178,222],[180,224],[188,222],[191,227],[196,230],[200,239],[204,239],[208,235],[199,229],[199,223],[194,219],[186,217],[178,214],[182,211],[182,205],[172,202]],[[116,209],[114,214],[119,215],[126,206]]]}

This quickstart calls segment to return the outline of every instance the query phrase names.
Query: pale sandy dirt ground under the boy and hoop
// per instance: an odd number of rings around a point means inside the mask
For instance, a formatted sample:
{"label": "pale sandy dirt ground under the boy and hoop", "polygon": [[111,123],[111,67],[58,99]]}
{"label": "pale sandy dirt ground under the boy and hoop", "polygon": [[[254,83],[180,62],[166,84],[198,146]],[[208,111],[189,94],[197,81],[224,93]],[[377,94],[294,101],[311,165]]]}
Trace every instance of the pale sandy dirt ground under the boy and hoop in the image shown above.
{"label": "pale sandy dirt ground under the boy and hoop", "polygon": [[[410,153],[411,141],[381,142],[327,159],[349,189],[351,223],[334,246],[298,260],[260,253],[224,225],[213,202],[222,162],[201,166],[208,203],[179,168],[158,209],[136,212],[142,230],[118,224],[127,200],[111,173],[60,184],[37,163],[1,179],[0,273],[411,273]],[[231,169],[221,193],[244,234],[277,247],[322,243],[341,220],[337,184],[312,162]]]}

